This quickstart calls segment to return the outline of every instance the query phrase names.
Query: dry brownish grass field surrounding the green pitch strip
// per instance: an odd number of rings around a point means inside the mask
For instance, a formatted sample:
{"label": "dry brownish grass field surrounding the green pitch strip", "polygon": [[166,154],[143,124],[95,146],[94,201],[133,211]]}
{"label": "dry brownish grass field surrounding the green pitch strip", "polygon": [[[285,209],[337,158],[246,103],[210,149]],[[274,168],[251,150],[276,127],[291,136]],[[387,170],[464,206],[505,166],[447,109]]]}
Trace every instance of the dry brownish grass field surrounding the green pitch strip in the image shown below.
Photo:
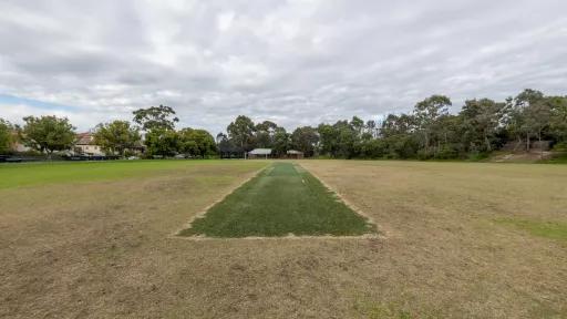
{"label": "dry brownish grass field surrounding the green pitch strip", "polygon": [[564,165],[298,163],[382,236],[171,236],[270,162],[0,165],[0,318],[567,317]]}

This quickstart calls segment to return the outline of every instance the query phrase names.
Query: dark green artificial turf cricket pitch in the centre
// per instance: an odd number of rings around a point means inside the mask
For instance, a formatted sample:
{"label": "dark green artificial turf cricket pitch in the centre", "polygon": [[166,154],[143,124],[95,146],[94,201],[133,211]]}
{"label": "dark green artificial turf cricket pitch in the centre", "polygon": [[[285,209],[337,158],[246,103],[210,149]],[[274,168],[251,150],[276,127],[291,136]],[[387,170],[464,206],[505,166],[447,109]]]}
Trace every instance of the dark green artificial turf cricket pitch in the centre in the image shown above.
{"label": "dark green artificial turf cricket pitch in the centre", "polygon": [[373,225],[349,208],[307,171],[276,162],[193,220],[181,236],[355,236]]}

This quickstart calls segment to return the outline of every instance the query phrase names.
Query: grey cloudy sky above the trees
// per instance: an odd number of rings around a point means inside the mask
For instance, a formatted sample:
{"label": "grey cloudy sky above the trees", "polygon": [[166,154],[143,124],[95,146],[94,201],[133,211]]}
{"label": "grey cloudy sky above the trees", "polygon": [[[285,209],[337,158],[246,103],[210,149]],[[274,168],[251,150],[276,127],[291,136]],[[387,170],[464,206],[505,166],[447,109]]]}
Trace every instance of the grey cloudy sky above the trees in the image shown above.
{"label": "grey cloudy sky above the trees", "polygon": [[0,117],[79,130],[173,106],[287,128],[405,112],[442,93],[567,94],[565,0],[0,2]]}

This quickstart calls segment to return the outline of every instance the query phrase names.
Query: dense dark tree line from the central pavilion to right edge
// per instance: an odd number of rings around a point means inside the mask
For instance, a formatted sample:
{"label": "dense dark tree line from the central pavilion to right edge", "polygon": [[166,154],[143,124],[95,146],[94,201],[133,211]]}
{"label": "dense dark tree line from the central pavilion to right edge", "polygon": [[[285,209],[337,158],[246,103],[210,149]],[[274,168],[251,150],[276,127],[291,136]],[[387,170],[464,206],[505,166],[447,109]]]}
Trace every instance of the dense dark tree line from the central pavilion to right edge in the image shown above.
{"label": "dense dark tree line from the central pavilion to right edge", "polygon": [[255,124],[239,115],[227,134],[217,135],[217,143],[225,154],[267,147],[276,155],[297,150],[306,156],[333,158],[477,158],[506,144],[529,151],[534,141],[540,150],[542,141],[556,150],[567,148],[567,96],[527,89],[502,102],[467,100],[456,114],[449,112],[452,105],[450,97],[432,95],[411,112],[389,114],[381,121],[353,116],[291,133],[274,122]]}

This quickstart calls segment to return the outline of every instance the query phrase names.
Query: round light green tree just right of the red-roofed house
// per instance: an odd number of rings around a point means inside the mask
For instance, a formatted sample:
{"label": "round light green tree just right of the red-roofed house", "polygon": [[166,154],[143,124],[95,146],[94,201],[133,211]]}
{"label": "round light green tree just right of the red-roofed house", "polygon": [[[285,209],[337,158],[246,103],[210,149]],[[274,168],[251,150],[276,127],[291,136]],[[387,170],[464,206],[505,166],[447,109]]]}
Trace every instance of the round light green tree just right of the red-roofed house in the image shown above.
{"label": "round light green tree just right of the red-roofed house", "polygon": [[132,127],[127,121],[101,123],[94,133],[94,143],[112,155],[124,156],[124,152],[135,147],[140,141],[138,130]]}

